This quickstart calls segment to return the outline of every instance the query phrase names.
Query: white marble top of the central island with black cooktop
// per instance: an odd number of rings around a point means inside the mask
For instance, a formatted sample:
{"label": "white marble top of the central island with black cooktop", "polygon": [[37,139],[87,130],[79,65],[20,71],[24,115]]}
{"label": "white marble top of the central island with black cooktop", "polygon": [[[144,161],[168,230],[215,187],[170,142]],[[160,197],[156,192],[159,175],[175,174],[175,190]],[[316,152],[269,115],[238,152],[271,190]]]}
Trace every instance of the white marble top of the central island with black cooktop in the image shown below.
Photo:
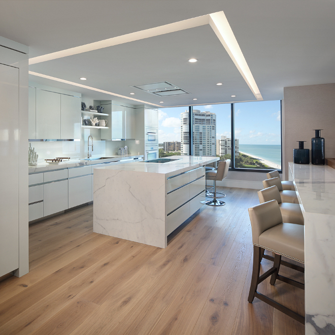
{"label": "white marble top of the central island with black cooktop", "polygon": [[166,178],[180,174],[192,169],[199,168],[219,160],[219,157],[213,156],[169,156],[164,158],[177,159],[166,163],[129,162],[120,165],[99,167],[105,170],[121,170],[134,172],[147,172],[154,174],[164,174]]}

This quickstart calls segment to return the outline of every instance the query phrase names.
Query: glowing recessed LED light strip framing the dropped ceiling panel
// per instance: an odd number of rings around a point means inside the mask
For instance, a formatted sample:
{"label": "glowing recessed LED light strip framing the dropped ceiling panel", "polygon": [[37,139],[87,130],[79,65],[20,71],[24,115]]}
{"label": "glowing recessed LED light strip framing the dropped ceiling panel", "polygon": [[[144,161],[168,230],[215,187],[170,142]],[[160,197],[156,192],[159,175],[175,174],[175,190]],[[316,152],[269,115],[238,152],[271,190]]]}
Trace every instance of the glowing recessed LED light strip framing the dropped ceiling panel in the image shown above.
{"label": "glowing recessed LED light strip framing the dropped ceiling panel", "polygon": [[[241,48],[234,36],[234,33],[231,30],[231,27],[223,11],[212,13],[212,14],[207,14],[203,16],[198,16],[198,17],[194,17],[194,18],[179,21],[179,22],[165,24],[162,26],[158,26],[158,27],[154,27],[154,28],[150,28],[146,30],[136,31],[136,32],[129,33],[127,35],[117,36],[111,39],[93,42],[93,43],[85,44],[79,47],[65,49],[65,50],[49,53],[49,54],[38,56],[38,57],[33,57],[29,59],[29,65],[37,64],[37,63],[41,63],[44,61],[53,60],[57,58],[67,57],[71,55],[76,55],[76,54],[80,54],[80,53],[88,52],[92,50],[107,48],[107,47],[111,47],[111,46],[119,45],[123,43],[143,40],[143,39],[147,39],[147,38],[154,37],[154,36],[164,35],[165,33],[185,30],[185,29],[194,28],[194,27],[198,27],[198,26],[202,26],[206,24],[209,24],[211,28],[214,30],[214,32],[216,33],[216,36],[220,40],[221,44],[224,46],[231,60],[236,65],[237,69],[241,73],[242,77],[246,81],[247,85],[251,89],[256,99],[258,101],[263,100],[260,94],[260,91],[257,87],[257,84],[255,82],[255,79],[252,76],[252,73],[243,56]],[[167,106],[152,104],[149,102],[134,99],[134,98],[116,94],[113,92],[105,91],[99,88],[94,88],[94,87],[74,83],[68,80],[63,80],[63,79],[43,75],[43,74],[32,72],[32,71],[29,71],[29,74],[33,76],[38,76],[38,77],[43,77],[43,78],[59,81],[59,82],[74,85],[74,86],[87,88],[87,89],[97,91],[97,92],[119,96],[119,97],[126,98],[132,101],[138,101],[144,104],[149,104],[149,105],[153,105],[157,107],[167,107]],[[211,103],[207,103],[206,105],[208,104],[211,104]]]}

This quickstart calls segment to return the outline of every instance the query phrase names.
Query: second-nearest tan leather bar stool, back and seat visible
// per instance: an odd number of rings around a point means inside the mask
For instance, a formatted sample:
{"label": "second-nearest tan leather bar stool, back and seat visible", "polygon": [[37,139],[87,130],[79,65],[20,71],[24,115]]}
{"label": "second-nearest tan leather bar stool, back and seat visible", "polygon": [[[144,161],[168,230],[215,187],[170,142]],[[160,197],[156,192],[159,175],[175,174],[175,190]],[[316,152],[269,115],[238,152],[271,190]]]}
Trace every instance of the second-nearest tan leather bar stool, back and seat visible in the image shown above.
{"label": "second-nearest tan leather bar stool, back and seat visible", "polygon": [[304,216],[299,204],[283,203],[277,186],[264,188],[257,192],[259,203],[263,204],[270,200],[277,200],[283,221],[304,225]]}

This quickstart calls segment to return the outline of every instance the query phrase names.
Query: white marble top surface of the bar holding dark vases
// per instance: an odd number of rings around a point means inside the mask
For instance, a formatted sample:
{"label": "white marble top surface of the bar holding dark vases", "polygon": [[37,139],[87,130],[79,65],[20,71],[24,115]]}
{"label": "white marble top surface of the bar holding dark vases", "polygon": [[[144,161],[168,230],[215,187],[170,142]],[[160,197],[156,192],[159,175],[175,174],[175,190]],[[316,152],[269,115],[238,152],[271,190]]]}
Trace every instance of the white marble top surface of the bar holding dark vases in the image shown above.
{"label": "white marble top surface of the bar holding dark vases", "polygon": [[328,165],[289,163],[305,212],[335,215],[335,170]]}

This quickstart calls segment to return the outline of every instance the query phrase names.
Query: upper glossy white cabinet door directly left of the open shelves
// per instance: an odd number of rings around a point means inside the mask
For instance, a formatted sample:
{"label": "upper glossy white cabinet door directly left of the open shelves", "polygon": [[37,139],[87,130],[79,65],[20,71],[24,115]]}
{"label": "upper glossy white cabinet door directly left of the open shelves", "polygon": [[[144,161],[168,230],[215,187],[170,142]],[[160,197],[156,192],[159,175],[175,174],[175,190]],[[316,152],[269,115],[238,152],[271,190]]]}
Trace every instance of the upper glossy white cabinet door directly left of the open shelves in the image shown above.
{"label": "upper glossy white cabinet door directly left of the open shelves", "polygon": [[80,98],[60,95],[60,138],[63,140],[80,140],[81,103]]}

